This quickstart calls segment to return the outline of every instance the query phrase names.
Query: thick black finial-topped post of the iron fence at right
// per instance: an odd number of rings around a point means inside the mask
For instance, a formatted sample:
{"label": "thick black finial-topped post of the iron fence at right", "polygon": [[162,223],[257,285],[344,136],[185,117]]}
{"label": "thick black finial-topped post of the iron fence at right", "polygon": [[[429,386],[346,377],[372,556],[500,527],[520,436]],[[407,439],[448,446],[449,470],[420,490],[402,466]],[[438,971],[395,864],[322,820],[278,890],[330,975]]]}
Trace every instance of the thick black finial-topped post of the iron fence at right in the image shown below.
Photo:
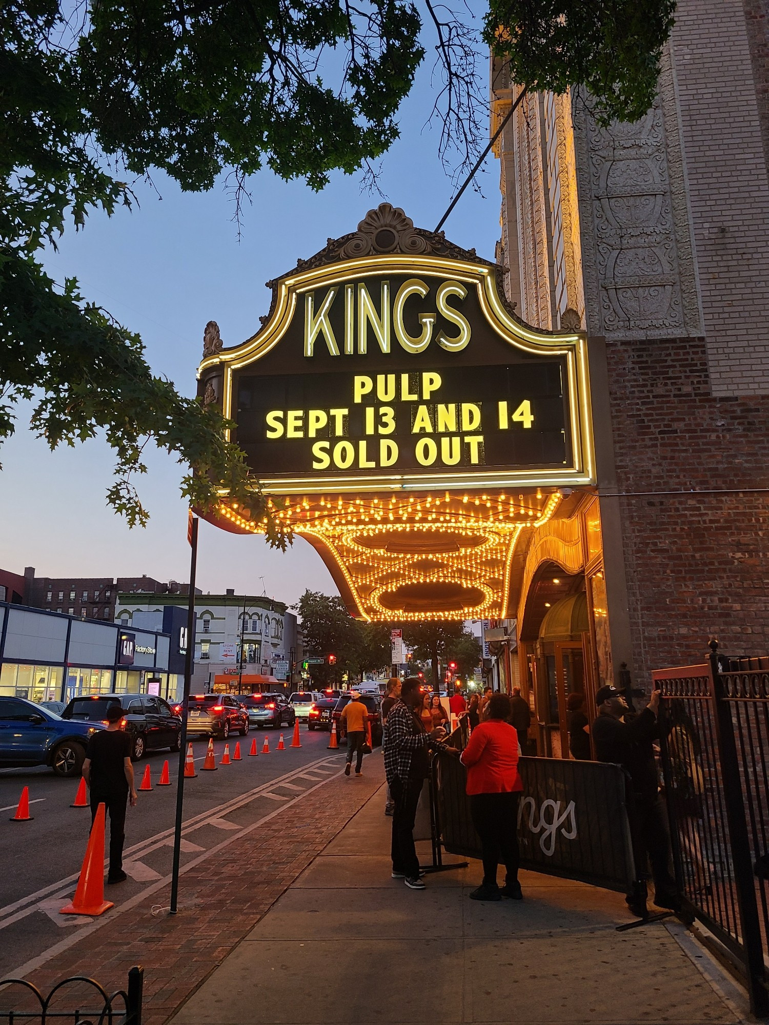
{"label": "thick black finial-topped post of the iron fence at right", "polygon": [[724,692],[718,657],[718,641],[711,641],[711,685],[716,708],[716,741],[724,788],[724,806],[729,825],[729,846],[734,866],[734,889],[737,894],[739,920],[742,927],[742,950],[747,973],[747,993],[751,1011],[757,1018],[769,1013],[769,992],[766,988],[763,941],[756,887],[753,881],[753,859],[747,834],[744,795],[739,778],[737,745],[734,740],[734,723],[729,702]]}

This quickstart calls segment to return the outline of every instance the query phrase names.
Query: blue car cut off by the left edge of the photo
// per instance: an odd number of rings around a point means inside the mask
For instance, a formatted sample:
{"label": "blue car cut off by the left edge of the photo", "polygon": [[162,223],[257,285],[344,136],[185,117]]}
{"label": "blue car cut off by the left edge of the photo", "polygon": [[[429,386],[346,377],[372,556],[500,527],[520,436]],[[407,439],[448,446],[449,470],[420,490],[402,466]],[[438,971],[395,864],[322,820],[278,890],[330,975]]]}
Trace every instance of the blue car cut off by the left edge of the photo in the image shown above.
{"label": "blue car cut off by the left edge of the photo", "polygon": [[56,776],[78,776],[88,738],[103,723],[73,723],[26,698],[0,697],[0,765],[50,766]]}

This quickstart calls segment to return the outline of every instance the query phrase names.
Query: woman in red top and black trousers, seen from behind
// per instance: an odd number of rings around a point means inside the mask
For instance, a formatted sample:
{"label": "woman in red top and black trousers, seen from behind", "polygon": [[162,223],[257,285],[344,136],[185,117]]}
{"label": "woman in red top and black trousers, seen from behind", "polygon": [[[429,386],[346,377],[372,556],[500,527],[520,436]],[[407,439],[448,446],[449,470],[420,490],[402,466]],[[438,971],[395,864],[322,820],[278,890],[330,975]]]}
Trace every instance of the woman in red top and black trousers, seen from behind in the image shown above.
{"label": "woman in red top and black trousers, seen from behind", "polygon": [[[473,825],[481,837],[483,883],[472,900],[521,900],[518,881],[518,802],[523,789],[518,774],[518,734],[507,723],[510,698],[493,694],[486,704],[486,719],[473,730],[461,753],[468,767],[468,794]],[[504,886],[496,885],[499,860],[508,870]]]}

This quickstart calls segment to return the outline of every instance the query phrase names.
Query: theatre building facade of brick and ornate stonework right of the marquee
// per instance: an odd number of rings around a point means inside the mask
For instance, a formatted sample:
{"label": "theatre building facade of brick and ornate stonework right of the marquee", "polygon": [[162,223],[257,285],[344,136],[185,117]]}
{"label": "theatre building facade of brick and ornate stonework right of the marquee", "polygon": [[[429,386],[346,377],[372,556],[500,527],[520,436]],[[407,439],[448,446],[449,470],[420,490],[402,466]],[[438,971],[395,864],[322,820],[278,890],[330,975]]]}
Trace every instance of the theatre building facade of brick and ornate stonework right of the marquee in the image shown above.
{"label": "theatre building facade of brick and ornate stonework right of the marquee", "polygon": [[[495,67],[492,90],[493,128],[519,88]],[[601,550],[584,494],[526,557],[531,686],[550,671],[537,574],[567,588],[554,600],[586,594],[597,683],[626,663],[648,687],[652,668],[701,661],[711,636],[765,654],[769,2],[679,0],[640,122],[603,128],[589,97],[529,94],[496,155],[508,296],[539,328],[581,328],[591,351]]]}

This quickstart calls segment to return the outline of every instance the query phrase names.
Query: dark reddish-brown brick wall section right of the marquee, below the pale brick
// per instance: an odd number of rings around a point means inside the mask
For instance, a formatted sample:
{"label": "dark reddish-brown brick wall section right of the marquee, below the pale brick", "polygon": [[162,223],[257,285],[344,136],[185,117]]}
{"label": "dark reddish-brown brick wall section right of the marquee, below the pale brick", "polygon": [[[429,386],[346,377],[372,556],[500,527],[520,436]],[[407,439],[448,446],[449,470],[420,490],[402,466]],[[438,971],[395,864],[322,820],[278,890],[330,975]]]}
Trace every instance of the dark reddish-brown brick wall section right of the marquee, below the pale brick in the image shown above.
{"label": "dark reddish-brown brick wall section right of the marquee, below the pale brick", "polygon": [[711,636],[726,654],[766,654],[769,399],[713,396],[701,338],[607,356],[618,490],[727,492],[621,500],[635,679],[703,661]]}

